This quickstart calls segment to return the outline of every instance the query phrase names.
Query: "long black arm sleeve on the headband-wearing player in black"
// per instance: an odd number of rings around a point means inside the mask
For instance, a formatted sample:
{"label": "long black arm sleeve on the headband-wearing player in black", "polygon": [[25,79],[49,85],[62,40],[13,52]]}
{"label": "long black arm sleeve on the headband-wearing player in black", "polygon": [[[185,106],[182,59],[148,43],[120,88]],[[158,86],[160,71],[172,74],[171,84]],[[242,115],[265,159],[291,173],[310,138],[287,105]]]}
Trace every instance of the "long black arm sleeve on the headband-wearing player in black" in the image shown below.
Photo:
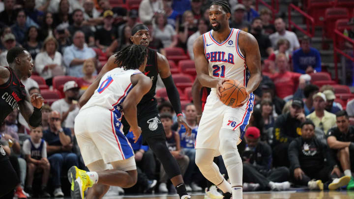
{"label": "long black arm sleeve on the headband-wearing player in black", "polygon": [[165,79],[161,78],[161,80],[166,87],[167,96],[169,97],[169,100],[173,108],[175,109],[176,114],[181,114],[182,111],[180,108],[179,93],[175,83],[173,82],[172,75],[170,75],[168,78]]}

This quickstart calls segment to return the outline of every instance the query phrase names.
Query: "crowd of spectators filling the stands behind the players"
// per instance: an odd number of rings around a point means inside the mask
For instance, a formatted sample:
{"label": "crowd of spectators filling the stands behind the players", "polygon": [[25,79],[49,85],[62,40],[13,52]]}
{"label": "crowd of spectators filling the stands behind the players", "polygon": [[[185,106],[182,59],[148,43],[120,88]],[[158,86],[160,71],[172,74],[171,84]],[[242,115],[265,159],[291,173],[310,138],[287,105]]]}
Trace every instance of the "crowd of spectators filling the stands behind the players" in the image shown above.
{"label": "crowd of spectators filling the stands behind the players", "polygon": [[[105,60],[131,44],[131,29],[136,24],[149,28],[150,48],[165,55],[164,48],[181,47],[190,59],[194,40],[210,30],[209,0],[142,0],[138,9],[131,10],[113,7],[111,2],[3,1],[0,65],[8,65],[9,49],[23,46],[32,56],[35,72],[50,88],[55,76],[77,78],[63,85],[62,99],[43,106],[41,127],[29,130],[18,111],[1,125],[0,142],[21,179],[16,187],[18,198],[61,197],[68,193],[62,184],[67,183],[62,178],[68,168],[76,165],[86,169],[74,132],[77,100],[93,83]],[[295,32],[286,29],[286,19],[272,21],[271,11],[263,8],[257,12],[253,0],[229,3],[230,27],[252,34],[262,57],[263,81],[254,92],[256,106],[242,142],[246,146],[239,150],[243,190],[286,190],[289,181],[309,189],[338,188],[339,181],[348,180],[354,171],[354,126],[350,125],[354,99],[343,110],[335,102],[330,85],[310,84],[310,75],[322,70],[320,53],[311,47],[311,38],[303,36],[299,40]],[[350,37],[353,32],[350,29]],[[22,82],[30,94],[41,92],[31,78]],[[184,106],[183,113],[193,128],[192,135],[186,137],[184,126],[178,127],[173,107],[165,100],[159,99],[159,113],[166,144],[184,173],[187,191],[202,191],[207,183],[195,164],[194,149],[197,114],[201,113],[193,104]],[[138,183],[125,190],[112,188],[111,194],[175,192],[151,150],[141,140],[134,143],[132,133],[126,137],[135,152]],[[215,162],[227,176],[220,157]],[[43,174],[37,179],[33,173],[39,168]],[[354,188],[353,178],[348,187]]]}

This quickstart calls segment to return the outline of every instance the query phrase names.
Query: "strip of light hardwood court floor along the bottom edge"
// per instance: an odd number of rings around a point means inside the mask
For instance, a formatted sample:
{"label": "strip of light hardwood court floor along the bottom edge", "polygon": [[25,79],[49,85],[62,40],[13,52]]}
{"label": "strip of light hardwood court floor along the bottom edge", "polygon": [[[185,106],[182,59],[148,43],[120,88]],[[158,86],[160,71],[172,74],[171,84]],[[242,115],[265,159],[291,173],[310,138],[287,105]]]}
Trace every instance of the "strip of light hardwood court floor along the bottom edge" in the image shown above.
{"label": "strip of light hardwood court floor along the bottom edge", "polygon": [[[104,199],[178,199],[178,195],[128,195],[104,197]],[[192,194],[192,199],[204,199],[204,194]],[[354,191],[323,192],[245,192],[243,199],[354,199]]]}

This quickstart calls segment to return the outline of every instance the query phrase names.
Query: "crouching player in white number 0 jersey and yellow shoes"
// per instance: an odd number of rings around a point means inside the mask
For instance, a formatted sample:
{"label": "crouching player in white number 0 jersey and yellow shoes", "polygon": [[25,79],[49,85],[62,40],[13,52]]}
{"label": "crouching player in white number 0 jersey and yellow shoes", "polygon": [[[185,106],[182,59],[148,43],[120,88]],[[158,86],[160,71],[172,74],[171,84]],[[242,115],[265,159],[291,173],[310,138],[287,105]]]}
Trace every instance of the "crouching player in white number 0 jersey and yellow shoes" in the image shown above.
{"label": "crouching player in white number 0 jersey and yellow shoes", "polygon": [[137,104],[152,85],[142,73],[147,49],[131,45],[115,57],[117,67],[96,80],[98,88],[75,118],[75,136],[89,172],[75,166],[68,171],[73,199],[84,199],[84,191],[91,186],[87,198],[99,199],[110,185],[129,188],[137,181],[134,152],[120,120],[124,114],[136,142],[142,132]]}

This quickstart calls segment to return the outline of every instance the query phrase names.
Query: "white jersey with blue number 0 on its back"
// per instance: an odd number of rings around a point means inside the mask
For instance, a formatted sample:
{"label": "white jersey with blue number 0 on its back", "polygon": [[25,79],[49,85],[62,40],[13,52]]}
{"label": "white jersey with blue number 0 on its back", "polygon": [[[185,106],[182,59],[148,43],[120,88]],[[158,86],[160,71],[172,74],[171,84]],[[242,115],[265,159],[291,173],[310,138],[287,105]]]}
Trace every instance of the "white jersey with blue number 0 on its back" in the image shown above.
{"label": "white jersey with blue number 0 on its back", "polygon": [[98,88],[81,110],[92,106],[100,106],[115,113],[117,111],[120,112],[125,97],[133,88],[130,76],[138,73],[141,73],[138,69],[124,70],[123,68],[115,68],[108,71],[101,78]]}

